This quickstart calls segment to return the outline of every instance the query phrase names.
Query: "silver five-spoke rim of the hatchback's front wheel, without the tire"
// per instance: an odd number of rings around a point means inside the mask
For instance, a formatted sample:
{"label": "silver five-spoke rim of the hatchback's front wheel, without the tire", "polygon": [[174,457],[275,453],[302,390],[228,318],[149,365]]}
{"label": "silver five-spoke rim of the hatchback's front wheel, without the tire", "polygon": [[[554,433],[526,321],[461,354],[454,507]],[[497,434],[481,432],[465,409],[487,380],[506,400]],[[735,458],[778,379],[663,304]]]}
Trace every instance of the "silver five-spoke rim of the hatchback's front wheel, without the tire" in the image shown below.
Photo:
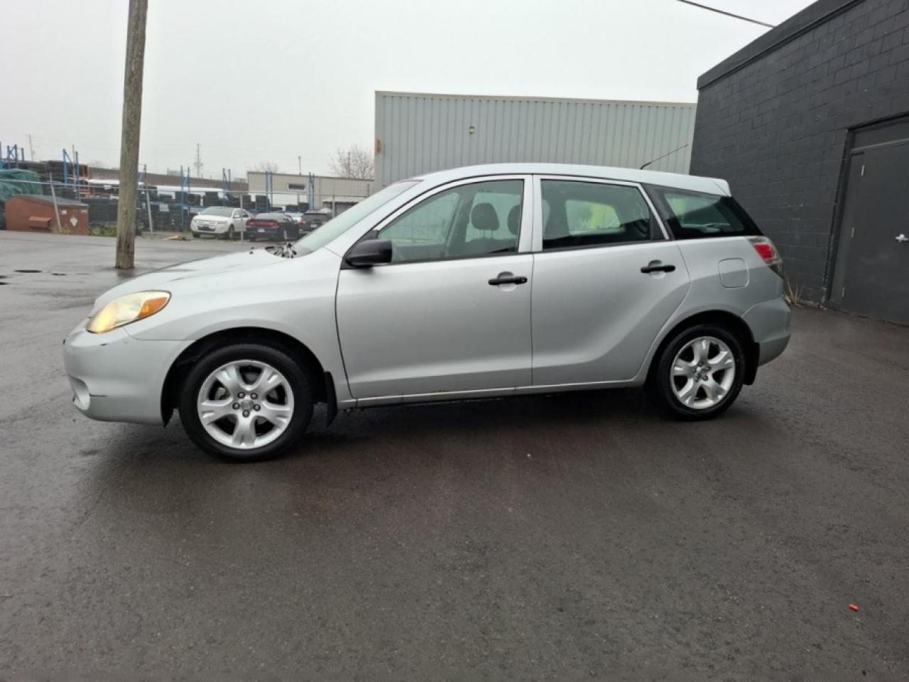
{"label": "silver five-spoke rim of the hatchback's front wheel, without the tire", "polygon": [[199,421],[209,436],[248,450],[281,436],[294,416],[294,392],[275,367],[236,360],[215,369],[196,399]]}

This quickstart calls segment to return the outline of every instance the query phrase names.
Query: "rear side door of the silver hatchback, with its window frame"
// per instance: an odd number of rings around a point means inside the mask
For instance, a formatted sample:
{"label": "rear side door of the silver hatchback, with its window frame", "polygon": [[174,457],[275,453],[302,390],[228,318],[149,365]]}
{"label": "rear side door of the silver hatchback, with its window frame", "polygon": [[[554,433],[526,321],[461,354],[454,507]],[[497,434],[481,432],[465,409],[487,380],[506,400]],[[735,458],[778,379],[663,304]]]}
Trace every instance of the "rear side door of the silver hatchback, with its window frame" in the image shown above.
{"label": "rear side door of the silver hatchback, with its window frame", "polygon": [[[560,207],[565,211],[569,206],[567,199],[562,206],[558,201],[555,207],[549,206],[552,202],[547,201],[543,185],[547,181],[584,186],[588,194],[621,195],[625,202],[630,197],[642,220],[627,223],[634,226],[633,234],[610,206],[608,216],[614,226],[608,225],[604,214],[603,230],[594,230],[594,237],[588,239],[583,232],[570,234],[565,223],[564,236],[550,242],[558,247],[547,250],[546,226]],[[688,289],[689,276],[678,246],[666,239],[654,206],[634,183],[540,176],[534,187],[538,197],[534,205],[534,386],[634,378]],[[608,201],[604,199],[604,206]],[[566,221],[567,215],[563,213],[562,219]],[[644,219],[649,221],[649,232],[639,225]],[[613,229],[616,243],[596,242],[598,236],[613,239]]]}

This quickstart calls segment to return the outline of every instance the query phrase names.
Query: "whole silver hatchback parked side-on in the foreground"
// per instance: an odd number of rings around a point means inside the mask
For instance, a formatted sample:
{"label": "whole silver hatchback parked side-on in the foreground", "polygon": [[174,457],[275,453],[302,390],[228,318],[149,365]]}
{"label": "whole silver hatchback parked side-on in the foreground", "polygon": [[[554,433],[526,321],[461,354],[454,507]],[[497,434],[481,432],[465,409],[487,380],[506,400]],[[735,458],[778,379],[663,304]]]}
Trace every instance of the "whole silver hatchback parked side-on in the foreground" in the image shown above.
{"label": "whole silver hatchback parked side-on in the foreground", "polygon": [[[139,276],[65,339],[75,406],[215,456],[276,456],[337,410],[645,386],[729,407],[783,352],[774,245],[723,180],[480,165],[387,186],[292,246]],[[607,418],[607,416],[604,416]]]}

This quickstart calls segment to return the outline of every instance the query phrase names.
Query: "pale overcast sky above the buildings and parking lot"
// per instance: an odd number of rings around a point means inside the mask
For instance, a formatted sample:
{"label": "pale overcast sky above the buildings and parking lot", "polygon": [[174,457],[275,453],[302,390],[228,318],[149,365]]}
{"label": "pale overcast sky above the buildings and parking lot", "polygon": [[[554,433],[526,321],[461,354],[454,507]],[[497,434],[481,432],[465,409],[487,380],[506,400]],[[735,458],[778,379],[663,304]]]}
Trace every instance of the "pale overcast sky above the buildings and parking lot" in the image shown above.
{"label": "pale overcast sky above the buildings and parking lot", "polygon": [[[777,24],[810,0],[698,0]],[[0,0],[0,143],[119,160],[126,0]],[[375,90],[694,102],[767,30],[677,0],[149,0],[140,161],[324,173]]]}

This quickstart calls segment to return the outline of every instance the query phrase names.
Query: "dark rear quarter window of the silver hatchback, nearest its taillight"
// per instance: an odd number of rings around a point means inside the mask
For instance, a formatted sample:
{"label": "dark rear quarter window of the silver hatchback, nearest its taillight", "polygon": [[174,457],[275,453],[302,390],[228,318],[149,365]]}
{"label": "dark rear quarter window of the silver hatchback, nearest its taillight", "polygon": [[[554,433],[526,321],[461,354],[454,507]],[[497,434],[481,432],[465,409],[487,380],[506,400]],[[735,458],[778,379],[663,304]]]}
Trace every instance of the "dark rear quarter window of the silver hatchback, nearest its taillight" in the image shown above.
{"label": "dark rear quarter window of the silver hatchback, nearest its taillight", "polygon": [[761,230],[731,196],[646,186],[676,239],[754,236]]}

